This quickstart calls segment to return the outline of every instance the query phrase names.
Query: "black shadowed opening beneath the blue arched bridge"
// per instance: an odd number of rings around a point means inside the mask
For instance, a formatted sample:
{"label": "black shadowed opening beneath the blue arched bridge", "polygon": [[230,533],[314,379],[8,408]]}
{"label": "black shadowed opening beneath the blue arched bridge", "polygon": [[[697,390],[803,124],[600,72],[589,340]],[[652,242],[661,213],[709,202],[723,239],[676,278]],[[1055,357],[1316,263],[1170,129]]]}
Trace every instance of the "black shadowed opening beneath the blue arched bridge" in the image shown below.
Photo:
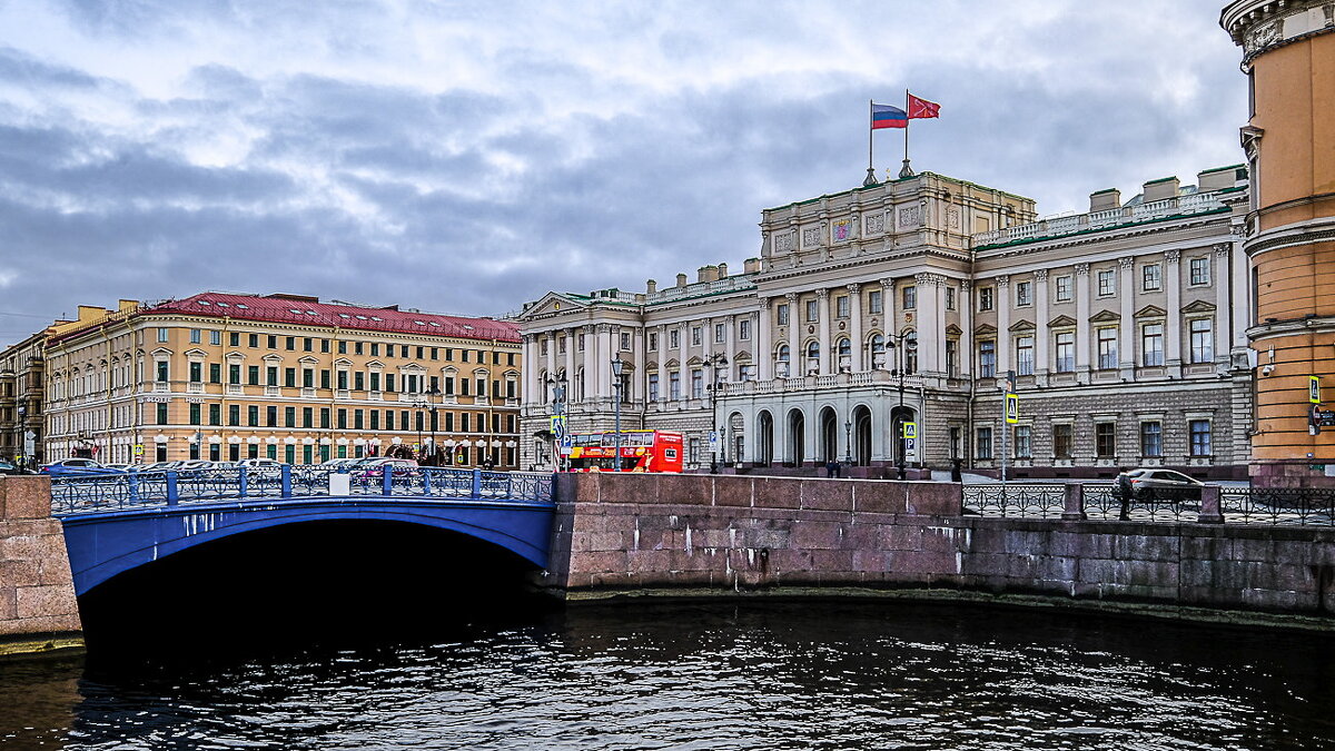
{"label": "black shadowed opening beneath the blue arched bridge", "polygon": [[214,540],[79,597],[89,659],[439,637],[553,603],[537,568],[475,537],[339,520]]}

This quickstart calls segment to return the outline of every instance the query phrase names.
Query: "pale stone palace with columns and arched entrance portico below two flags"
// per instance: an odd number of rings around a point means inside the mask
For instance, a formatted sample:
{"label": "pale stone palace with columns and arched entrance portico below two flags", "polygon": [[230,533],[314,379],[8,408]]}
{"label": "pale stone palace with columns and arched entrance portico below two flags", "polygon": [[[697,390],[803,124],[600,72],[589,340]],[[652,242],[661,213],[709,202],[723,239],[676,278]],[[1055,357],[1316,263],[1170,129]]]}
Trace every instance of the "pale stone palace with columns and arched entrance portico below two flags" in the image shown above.
{"label": "pale stone palace with columns and arched entrance portico below two flags", "polygon": [[558,396],[571,432],[610,429],[619,359],[622,426],[684,432],[694,468],[1243,476],[1246,186],[1226,167],[1035,220],[1027,198],[924,172],[765,210],[741,274],[525,305],[521,461],[553,461]]}

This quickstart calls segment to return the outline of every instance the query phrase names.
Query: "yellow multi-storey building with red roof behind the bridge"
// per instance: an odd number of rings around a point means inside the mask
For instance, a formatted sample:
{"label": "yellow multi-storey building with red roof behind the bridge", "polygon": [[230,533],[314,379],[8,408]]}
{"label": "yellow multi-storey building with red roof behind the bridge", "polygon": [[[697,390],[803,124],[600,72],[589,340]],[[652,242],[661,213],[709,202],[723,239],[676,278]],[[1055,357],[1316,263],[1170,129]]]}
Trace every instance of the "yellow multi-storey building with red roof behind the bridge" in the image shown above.
{"label": "yellow multi-storey building with red roof behind the bridge", "polygon": [[517,327],[290,294],[79,307],[45,349],[48,461],[415,456],[513,468]]}

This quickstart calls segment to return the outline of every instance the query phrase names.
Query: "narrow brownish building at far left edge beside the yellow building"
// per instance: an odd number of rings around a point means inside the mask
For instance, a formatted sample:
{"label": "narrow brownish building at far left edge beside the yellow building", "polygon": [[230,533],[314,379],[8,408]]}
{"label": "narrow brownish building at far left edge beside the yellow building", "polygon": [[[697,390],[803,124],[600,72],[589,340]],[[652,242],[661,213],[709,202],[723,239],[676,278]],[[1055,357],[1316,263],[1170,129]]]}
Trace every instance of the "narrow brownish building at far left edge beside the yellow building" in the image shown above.
{"label": "narrow brownish building at far left edge beside the yellow building", "polygon": [[47,333],[0,353],[0,458],[29,468],[45,456],[41,394]]}

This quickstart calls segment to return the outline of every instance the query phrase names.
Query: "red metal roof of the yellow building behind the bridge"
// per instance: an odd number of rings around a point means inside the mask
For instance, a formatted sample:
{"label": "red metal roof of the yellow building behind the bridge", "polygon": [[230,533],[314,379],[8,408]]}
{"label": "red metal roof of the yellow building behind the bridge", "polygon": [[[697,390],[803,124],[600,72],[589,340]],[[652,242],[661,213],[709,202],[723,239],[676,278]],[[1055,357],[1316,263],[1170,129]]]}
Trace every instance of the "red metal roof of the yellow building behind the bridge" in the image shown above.
{"label": "red metal roof of the yellow building behind the bridge", "polygon": [[338,326],[340,329],[356,329],[362,331],[390,331],[395,334],[423,334],[485,341],[498,339],[502,342],[519,341],[519,326],[509,321],[435,315],[388,307],[355,307],[351,305],[316,302],[316,298],[303,295],[200,293],[184,299],[174,299],[152,307],[143,307],[139,313],[142,315],[184,313],[211,318]]}

